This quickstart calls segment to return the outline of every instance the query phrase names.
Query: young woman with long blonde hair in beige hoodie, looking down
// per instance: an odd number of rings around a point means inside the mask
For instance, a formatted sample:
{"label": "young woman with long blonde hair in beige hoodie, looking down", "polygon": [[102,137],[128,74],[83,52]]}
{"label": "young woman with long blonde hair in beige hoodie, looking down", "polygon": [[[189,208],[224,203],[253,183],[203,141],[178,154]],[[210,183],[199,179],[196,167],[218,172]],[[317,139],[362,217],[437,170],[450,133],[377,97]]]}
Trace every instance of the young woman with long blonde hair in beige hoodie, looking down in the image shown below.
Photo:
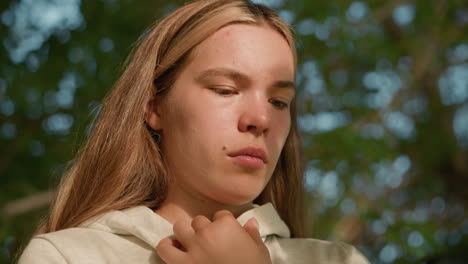
{"label": "young woman with long blonde hair in beige hoodie, looking down", "polygon": [[367,263],[304,236],[289,26],[202,0],[139,40],[20,263]]}

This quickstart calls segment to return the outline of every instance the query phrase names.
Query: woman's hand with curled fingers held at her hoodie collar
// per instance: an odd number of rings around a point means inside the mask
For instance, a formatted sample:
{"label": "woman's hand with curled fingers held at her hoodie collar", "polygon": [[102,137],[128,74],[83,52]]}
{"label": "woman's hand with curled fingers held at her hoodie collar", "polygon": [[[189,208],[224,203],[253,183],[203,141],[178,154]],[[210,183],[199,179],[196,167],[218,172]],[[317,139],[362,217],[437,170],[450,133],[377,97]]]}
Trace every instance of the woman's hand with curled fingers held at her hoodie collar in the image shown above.
{"label": "woman's hand with curled fingers held at her hoodie collar", "polygon": [[192,223],[177,221],[174,234],[177,240],[165,238],[156,246],[168,264],[271,264],[254,218],[242,227],[231,212],[222,210],[215,213],[213,222],[204,216]]}

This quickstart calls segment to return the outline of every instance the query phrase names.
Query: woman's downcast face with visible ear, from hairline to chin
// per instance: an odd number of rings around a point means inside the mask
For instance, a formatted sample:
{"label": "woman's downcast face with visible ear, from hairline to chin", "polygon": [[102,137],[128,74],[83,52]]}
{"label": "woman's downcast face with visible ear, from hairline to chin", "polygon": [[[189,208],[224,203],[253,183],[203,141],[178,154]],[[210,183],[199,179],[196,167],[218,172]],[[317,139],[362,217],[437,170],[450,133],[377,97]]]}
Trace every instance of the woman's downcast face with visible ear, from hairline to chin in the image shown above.
{"label": "woman's downcast face with visible ear, from hairline to chin", "polygon": [[[252,202],[283,149],[294,94],[292,51],[272,28],[232,24],[198,45],[149,119],[176,180],[169,197]],[[236,156],[245,148],[256,151]],[[265,161],[253,157],[261,150]]]}

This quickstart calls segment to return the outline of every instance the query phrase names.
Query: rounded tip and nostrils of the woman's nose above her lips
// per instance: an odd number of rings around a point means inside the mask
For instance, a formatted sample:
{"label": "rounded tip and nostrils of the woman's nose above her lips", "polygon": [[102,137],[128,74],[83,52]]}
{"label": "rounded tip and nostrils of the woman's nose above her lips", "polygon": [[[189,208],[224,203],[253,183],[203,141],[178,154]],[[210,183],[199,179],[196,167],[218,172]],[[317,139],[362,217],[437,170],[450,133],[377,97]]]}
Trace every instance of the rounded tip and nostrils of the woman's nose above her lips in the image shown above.
{"label": "rounded tip and nostrils of the woman's nose above her lips", "polygon": [[256,101],[245,105],[243,108],[239,118],[239,131],[251,132],[256,136],[266,133],[270,123],[268,105]]}

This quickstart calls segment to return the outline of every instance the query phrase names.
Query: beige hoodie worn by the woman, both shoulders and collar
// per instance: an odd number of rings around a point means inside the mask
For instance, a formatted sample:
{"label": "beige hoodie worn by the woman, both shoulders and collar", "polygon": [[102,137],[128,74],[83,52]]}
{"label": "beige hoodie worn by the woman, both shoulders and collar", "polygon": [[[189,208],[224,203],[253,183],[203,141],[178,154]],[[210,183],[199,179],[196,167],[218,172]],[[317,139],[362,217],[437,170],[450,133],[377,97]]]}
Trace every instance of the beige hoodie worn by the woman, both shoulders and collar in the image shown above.
{"label": "beige hoodie worn by the woman, both shoulders and collar", "polygon": [[[317,239],[290,238],[289,229],[268,203],[237,218],[241,225],[255,217],[274,264],[368,264],[352,246]],[[155,251],[172,225],[144,206],[111,211],[79,227],[34,237],[19,264],[34,263],[164,263]]]}

